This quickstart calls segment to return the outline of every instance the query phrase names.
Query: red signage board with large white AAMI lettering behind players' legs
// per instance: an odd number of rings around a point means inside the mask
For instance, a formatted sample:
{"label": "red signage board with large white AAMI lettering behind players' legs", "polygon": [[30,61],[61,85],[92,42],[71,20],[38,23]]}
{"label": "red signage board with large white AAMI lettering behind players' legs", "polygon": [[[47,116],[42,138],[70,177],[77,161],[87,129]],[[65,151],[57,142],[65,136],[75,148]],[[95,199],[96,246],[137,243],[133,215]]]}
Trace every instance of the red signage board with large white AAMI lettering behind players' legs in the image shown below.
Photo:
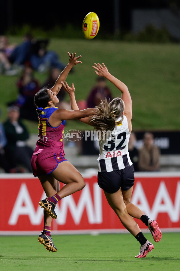
{"label": "red signage board with large white AAMI lettering behind players' legs", "polygon": [[[86,186],[63,198],[57,205],[53,233],[126,232],[110,208],[97,175],[84,176]],[[0,234],[34,234],[43,229],[43,209],[39,200],[45,193],[31,174],[1,174]],[[161,229],[180,231],[180,173],[136,173],[132,203]],[[142,230],[147,229],[137,220]]]}

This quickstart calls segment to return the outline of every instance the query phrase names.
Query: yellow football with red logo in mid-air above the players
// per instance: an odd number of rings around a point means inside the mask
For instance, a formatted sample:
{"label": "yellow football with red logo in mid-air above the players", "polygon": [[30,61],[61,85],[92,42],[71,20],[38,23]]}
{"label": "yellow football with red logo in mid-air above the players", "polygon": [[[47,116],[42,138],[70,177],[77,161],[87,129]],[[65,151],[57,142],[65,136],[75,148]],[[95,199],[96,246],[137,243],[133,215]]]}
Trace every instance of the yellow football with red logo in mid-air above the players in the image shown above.
{"label": "yellow football with red logo in mid-air above the players", "polygon": [[99,31],[99,18],[95,12],[89,12],[82,23],[82,32],[86,39],[93,39]]}

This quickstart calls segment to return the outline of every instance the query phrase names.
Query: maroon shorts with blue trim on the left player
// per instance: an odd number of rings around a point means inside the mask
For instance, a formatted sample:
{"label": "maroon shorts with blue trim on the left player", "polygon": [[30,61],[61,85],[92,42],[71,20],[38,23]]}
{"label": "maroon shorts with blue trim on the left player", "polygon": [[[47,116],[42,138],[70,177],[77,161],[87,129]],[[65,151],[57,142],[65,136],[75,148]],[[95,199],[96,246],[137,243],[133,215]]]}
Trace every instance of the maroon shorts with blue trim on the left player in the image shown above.
{"label": "maroon shorts with blue trim on the left player", "polygon": [[33,175],[48,175],[56,169],[59,163],[67,161],[61,153],[38,153],[34,154],[31,159]]}

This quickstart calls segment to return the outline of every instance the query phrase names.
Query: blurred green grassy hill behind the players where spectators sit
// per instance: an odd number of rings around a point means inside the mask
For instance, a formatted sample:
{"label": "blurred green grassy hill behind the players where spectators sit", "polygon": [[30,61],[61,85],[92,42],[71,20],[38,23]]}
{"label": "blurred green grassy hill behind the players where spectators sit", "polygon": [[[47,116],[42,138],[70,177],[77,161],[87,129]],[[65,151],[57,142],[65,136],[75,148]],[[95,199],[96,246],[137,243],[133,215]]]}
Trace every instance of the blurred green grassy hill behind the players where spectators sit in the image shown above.
{"label": "blurred green grassy hill behind the players where spectators sit", "polygon": [[[10,37],[10,42],[21,42]],[[51,39],[49,49],[55,50],[61,61],[68,62],[67,51],[82,55],[83,64],[73,68],[67,78],[74,83],[76,99],[86,99],[95,83],[92,69],[95,62],[104,62],[110,73],[129,88],[133,101],[134,130],[175,130],[180,127],[179,44],[128,43],[120,41]],[[35,73],[41,83],[46,74]],[[6,103],[17,96],[17,76],[0,76],[1,119],[6,117]],[[114,97],[120,92],[110,83]],[[68,100],[68,97],[67,97]],[[26,122],[30,132],[37,132],[37,124]],[[87,129],[87,125],[68,121],[66,129]]]}

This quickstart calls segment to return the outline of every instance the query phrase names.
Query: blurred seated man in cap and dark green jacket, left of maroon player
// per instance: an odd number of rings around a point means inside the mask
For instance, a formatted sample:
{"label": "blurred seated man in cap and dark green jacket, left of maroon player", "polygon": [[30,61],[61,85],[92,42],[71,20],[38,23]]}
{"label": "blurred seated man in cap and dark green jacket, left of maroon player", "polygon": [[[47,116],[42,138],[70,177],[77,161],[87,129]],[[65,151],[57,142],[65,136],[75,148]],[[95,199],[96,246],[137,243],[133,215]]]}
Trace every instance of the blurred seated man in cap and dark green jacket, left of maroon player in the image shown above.
{"label": "blurred seated man in cap and dark green jacket, left of maroon player", "polygon": [[4,149],[11,168],[22,165],[26,170],[32,172],[33,150],[26,144],[26,140],[29,139],[29,132],[19,119],[19,115],[19,107],[8,108],[7,120],[4,123],[7,145]]}

